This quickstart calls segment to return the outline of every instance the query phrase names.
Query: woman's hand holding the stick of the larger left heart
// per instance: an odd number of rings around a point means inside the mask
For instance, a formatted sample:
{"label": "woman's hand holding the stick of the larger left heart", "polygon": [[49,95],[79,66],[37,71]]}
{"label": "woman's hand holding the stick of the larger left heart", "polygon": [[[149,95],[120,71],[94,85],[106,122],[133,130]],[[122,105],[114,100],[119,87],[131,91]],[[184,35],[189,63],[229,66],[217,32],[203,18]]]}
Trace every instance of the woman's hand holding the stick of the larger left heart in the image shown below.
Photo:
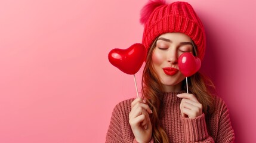
{"label": "woman's hand holding the stick of the larger left heart", "polygon": [[141,98],[136,98],[131,103],[129,125],[137,142],[149,142],[152,138],[152,125],[149,114],[152,114],[149,105]]}

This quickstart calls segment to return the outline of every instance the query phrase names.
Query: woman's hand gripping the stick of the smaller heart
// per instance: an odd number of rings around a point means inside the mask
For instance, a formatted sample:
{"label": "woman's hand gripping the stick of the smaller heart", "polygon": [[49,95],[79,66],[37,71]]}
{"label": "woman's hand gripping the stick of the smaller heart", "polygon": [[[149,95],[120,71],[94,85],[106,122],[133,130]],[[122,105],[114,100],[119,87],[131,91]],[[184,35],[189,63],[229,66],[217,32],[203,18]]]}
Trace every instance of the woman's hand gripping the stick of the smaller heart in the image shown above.
{"label": "woman's hand gripping the stick of the smaller heart", "polygon": [[183,98],[180,103],[182,117],[194,119],[202,114],[203,106],[193,94],[178,94],[177,97]]}

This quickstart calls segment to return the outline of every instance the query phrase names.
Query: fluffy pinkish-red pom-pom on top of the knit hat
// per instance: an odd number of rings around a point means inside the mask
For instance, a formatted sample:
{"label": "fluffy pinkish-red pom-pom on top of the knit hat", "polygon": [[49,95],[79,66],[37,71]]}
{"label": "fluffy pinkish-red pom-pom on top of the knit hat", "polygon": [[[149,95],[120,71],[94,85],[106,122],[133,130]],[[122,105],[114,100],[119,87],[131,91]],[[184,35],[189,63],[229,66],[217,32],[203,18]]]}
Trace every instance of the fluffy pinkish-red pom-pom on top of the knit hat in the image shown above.
{"label": "fluffy pinkish-red pom-pom on top of the knit hat", "polygon": [[142,8],[140,13],[140,23],[145,24],[147,20],[149,19],[150,15],[153,13],[153,11],[161,6],[165,5],[165,0],[151,0],[147,2],[147,4]]}

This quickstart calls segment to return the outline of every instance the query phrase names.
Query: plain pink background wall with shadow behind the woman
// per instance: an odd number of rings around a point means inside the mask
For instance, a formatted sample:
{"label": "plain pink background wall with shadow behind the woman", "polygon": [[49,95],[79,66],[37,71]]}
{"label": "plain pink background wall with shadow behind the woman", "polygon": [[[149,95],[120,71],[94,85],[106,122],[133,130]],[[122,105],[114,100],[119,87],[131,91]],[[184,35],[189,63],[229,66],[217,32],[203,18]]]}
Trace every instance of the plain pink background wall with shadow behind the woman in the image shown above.
{"label": "plain pink background wall with shadow behind the woman", "polygon": [[[0,142],[104,142],[113,107],[136,96],[107,54],[141,42],[146,2],[0,1]],[[255,1],[190,4],[208,38],[202,71],[230,109],[236,142],[256,142]]]}

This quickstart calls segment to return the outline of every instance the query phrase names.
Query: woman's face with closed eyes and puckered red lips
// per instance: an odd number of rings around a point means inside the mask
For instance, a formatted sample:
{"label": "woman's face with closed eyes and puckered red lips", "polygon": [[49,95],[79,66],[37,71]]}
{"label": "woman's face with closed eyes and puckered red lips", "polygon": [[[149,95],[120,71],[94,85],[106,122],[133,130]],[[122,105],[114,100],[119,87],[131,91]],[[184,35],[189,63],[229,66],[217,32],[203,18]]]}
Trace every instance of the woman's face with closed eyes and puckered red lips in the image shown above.
{"label": "woman's face with closed eyes and puckered red lips", "polygon": [[178,57],[184,52],[193,53],[193,45],[189,36],[183,33],[165,33],[156,41],[152,64],[165,92],[181,91],[185,77],[178,69]]}

